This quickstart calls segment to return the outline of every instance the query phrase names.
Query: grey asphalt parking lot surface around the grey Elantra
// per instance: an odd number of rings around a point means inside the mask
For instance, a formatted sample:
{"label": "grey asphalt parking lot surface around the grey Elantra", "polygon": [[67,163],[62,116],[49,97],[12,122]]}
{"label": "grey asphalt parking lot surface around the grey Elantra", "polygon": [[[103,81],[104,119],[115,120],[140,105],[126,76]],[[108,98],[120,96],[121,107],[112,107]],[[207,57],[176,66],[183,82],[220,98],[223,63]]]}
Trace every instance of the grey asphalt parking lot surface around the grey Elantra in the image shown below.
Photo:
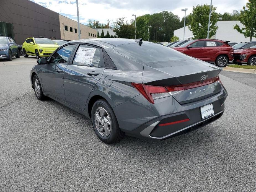
{"label": "grey asphalt parking lot surface around the grey Elantra", "polygon": [[[15,63],[16,62],[16,63]],[[221,119],[163,142],[104,144],[90,120],[30,86],[33,57],[0,61],[0,191],[256,191],[256,74],[223,71]]]}

